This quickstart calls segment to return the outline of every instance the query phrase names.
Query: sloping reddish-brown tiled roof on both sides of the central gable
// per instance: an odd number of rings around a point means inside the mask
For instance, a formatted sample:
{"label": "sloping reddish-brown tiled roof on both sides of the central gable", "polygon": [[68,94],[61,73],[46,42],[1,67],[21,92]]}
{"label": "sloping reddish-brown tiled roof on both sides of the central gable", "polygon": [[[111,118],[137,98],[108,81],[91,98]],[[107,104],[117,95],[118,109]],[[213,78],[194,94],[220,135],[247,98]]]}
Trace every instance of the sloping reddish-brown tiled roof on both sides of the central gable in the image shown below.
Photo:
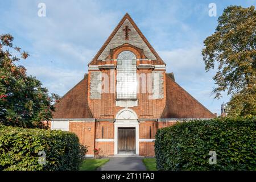
{"label": "sloping reddish-brown tiled roof on both sides of the central gable", "polygon": [[[88,74],[55,104],[53,119],[93,118],[88,106]],[[193,98],[166,73],[166,107],[161,118],[214,118],[200,102]]]}

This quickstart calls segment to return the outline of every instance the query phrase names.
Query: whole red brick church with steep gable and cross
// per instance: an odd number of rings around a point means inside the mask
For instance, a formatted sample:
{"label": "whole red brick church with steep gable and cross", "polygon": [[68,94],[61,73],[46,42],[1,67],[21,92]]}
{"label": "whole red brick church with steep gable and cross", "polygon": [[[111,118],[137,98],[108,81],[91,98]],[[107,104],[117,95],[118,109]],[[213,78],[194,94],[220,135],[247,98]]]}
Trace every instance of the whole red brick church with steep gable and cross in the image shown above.
{"label": "whole red brick church with steep gable and cross", "polygon": [[51,129],[76,133],[100,155],[154,156],[156,130],[213,118],[166,73],[166,63],[129,14],[88,64],[88,73],[55,104]]}

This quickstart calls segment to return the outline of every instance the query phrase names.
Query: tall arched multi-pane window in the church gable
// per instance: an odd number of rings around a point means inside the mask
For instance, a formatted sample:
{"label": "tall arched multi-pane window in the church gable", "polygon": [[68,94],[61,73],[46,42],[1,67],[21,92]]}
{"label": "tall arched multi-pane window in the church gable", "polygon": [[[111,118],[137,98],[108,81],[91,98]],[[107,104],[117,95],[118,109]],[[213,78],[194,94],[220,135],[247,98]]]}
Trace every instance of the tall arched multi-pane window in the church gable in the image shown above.
{"label": "tall arched multi-pane window in the church gable", "polygon": [[117,99],[136,99],[136,56],[123,51],[117,57]]}

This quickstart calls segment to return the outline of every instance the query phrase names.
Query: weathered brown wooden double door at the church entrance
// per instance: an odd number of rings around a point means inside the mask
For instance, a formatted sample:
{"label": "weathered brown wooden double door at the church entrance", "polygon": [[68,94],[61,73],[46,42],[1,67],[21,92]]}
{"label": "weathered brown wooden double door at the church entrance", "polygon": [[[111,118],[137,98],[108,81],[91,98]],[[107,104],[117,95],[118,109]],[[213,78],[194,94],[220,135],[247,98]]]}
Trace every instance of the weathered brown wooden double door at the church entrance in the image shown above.
{"label": "weathered brown wooden double door at the church entrance", "polygon": [[118,127],[118,154],[135,154],[135,127]]}

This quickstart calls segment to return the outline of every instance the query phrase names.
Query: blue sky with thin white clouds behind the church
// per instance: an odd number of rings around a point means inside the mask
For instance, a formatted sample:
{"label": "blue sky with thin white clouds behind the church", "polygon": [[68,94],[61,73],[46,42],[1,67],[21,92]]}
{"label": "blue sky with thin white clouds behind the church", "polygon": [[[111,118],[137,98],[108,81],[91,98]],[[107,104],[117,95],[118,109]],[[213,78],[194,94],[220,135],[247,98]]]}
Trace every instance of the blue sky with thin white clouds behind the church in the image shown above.
{"label": "blue sky with thin white clouds behind the church", "polygon": [[[46,4],[46,17],[38,4]],[[216,3],[217,16],[208,15]],[[213,113],[220,100],[211,94],[214,71],[205,72],[203,41],[213,34],[217,18],[229,5],[249,7],[243,1],[0,1],[0,34],[14,36],[14,44],[30,53],[19,64],[36,76],[49,92],[63,96],[84,73],[119,20],[127,12],[151,45],[174,72],[176,82]]]}

